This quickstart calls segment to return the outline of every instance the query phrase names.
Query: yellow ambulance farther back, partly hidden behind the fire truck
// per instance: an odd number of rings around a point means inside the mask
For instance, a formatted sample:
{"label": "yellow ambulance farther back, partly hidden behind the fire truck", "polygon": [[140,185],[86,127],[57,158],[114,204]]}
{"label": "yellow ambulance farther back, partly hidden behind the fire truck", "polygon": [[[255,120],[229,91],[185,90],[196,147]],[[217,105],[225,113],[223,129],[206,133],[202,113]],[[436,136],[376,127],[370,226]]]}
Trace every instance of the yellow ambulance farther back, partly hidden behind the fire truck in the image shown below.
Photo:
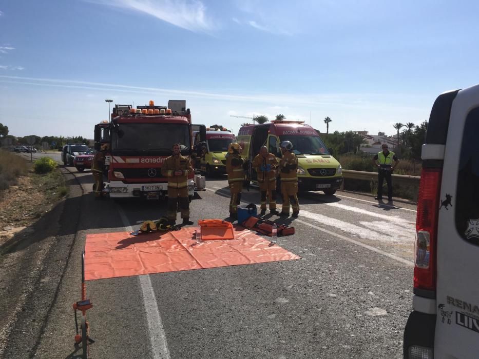
{"label": "yellow ambulance farther back, partly hidden behind the fire truck", "polygon": [[[194,143],[199,142],[200,132],[193,132]],[[199,158],[200,169],[207,176],[226,173],[228,145],[236,142],[235,135],[226,128],[214,125],[206,128],[206,152]]]}

